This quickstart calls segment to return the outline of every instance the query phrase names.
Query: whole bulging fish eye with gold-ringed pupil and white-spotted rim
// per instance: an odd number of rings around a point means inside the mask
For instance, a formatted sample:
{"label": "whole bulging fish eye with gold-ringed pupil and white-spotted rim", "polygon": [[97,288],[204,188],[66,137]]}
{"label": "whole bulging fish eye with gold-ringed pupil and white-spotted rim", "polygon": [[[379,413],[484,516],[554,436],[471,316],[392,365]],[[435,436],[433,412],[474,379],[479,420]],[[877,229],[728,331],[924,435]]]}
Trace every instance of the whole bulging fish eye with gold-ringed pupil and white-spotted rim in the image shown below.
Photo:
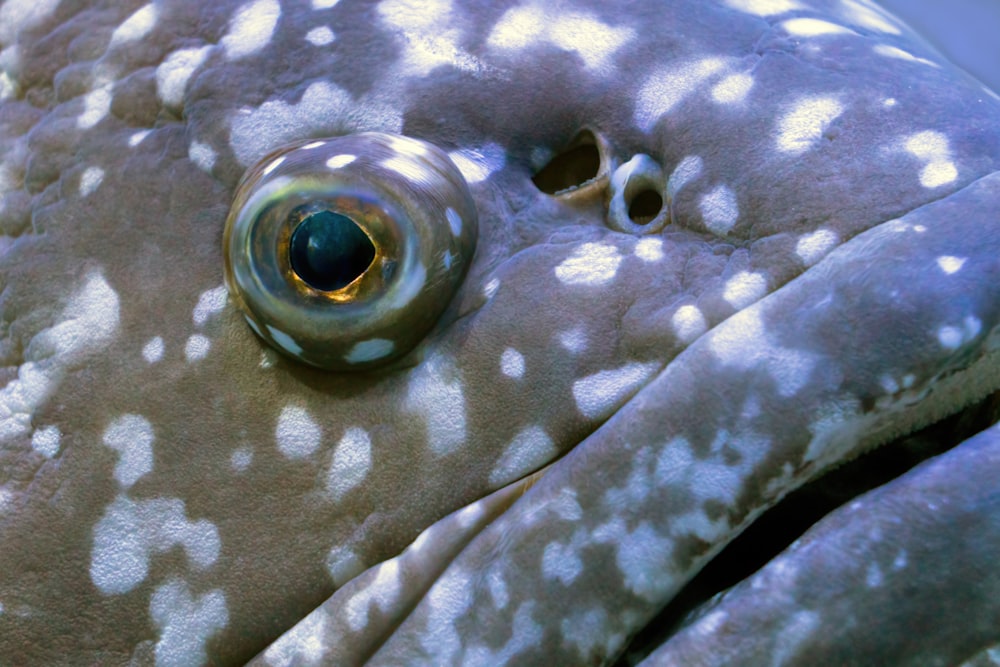
{"label": "whole bulging fish eye with gold-ringed pupil and white-spotted rim", "polygon": [[468,185],[436,146],[380,133],[299,142],[237,187],[226,284],[281,352],[330,370],[372,368],[427,335],[476,237]]}

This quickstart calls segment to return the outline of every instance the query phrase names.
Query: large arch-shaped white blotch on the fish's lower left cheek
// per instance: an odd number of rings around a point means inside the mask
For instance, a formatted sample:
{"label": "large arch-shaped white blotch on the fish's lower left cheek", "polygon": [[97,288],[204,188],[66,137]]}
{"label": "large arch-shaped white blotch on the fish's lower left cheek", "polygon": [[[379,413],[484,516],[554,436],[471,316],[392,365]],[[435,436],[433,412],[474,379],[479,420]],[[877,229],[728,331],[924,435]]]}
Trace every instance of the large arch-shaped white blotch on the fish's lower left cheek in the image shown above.
{"label": "large arch-shaped white blotch on the fish's lower left cheek", "polygon": [[94,526],[90,578],[103,595],[121,595],[146,580],[149,557],[181,546],[197,570],[215,564],[221,543],[210,521],[188,521],[179,498],[115,498]]}

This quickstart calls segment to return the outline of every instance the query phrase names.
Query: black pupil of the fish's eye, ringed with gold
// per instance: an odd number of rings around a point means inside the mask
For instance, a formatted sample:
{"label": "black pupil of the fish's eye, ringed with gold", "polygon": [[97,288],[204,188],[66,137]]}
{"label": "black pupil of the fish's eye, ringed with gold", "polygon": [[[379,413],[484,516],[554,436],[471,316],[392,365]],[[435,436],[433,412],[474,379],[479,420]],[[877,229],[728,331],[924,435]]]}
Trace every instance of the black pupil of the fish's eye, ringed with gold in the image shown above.
{"label": "black pupil of the fish's eye, ringed with gold", "polygon": [[299,223],[288,249],[292,270],[330,292],[349,285],[375,259],[375,246],[350,218],[320,211]]}

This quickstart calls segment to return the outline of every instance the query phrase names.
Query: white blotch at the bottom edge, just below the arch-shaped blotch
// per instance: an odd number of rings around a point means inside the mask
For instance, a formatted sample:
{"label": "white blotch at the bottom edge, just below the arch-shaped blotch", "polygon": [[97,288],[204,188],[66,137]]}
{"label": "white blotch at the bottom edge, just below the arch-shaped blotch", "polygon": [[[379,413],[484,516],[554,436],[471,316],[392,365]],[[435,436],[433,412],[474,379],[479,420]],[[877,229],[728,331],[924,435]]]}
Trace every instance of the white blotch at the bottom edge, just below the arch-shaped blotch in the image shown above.
{"label": "white blotch at the bottom edge, just below the arch-shaped blotch", "polygon": [[149,616],[160,630],[156,667],[205,664],[208,640],[229,624],[226,596],[220,589],[195,597],[179,579],[156,589],[149,601]]}

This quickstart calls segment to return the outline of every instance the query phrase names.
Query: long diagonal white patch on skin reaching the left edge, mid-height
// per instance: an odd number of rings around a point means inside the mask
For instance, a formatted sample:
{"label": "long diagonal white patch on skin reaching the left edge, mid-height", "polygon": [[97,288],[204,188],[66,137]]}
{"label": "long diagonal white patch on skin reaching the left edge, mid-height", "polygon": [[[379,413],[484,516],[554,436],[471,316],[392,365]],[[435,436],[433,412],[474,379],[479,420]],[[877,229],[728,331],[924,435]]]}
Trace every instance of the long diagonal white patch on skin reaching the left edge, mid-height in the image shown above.
{"label": "long diagonal white patch on skin reaching the left edge, mid-height", "polygon": [[39,331],[24,351],[17,377],[0,389],[0,442],[31,431],[35,411],[67,371],[107,348],[118,330],[118,294],[99,273],[85,278],[59,320]]}

